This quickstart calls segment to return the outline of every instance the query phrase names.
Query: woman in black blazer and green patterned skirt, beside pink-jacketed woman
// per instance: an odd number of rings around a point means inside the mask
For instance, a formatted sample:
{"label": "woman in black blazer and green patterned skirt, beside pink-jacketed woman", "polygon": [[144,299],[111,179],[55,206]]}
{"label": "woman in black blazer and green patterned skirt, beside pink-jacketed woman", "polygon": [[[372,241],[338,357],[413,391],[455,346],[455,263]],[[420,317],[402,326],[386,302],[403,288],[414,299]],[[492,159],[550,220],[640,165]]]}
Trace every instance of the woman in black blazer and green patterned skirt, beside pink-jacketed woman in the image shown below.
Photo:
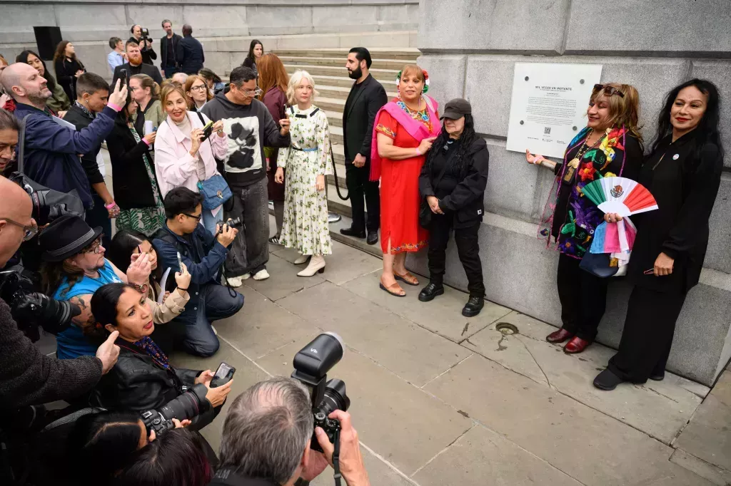
{"label": "woman in black blazer and green patterned skirt, beside pink-jacketed woman", "polygon": [[140,138],[135,129],[137,103],[129,93],[124,109],[117,114],[107,147],[112,161],[114,198],[120,209],[117,231],[129,229],[147,236],[154,234],[165,220],[162,196],[157,187],[155,168],[149,150],[156,132]]}

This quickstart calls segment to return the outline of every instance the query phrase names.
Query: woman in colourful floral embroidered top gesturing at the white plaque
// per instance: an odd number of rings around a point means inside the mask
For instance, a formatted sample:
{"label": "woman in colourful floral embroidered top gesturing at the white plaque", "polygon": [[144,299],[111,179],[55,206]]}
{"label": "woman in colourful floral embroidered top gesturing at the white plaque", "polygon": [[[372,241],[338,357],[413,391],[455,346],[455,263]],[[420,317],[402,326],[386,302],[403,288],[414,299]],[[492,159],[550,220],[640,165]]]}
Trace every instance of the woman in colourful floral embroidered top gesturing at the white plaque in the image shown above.
{"label": "woman in colourful floral embroidered top gesturing at the white plaque", "polygon": [[596,330],[607,306],[607,279],[579,268],[591,247],[594,230],[603,212],[581,189],[602,177],[635,179],[642,164],[642,137],[637,126],[640,95],[631,85],[594,85],[586,111],[586,128],[569,143],[564,161],[548,161],[526,150],[526,160],[548,167],[556,174],[552,195],[542,218],[540,233],[554,239],[558,257],[558,298],[562,327],[546,340],[561,343],[569,354],[582,352],[594,342]]}

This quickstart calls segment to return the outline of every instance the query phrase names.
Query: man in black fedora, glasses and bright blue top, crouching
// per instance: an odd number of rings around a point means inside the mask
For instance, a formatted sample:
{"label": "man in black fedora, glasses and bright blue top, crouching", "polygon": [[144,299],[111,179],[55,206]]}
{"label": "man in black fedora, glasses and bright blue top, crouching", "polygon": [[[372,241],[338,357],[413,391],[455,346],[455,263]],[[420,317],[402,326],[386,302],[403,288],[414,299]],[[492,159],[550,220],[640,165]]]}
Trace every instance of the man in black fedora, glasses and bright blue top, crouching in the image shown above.
{"label": "man in black fedora, glasses and bright blue top, crouching", "polygon": [[[83,218],[63,215],[53,220],[39,236],[42,259],[43,291],[57,301],[69,301],[81,309],[73,325],[56,336],[56,356],[72,359],[94,355],[99,343],[88,339],[84,330],[96,325],[91,315],[91,296],[102,285],[124,282],[140,290],[146,287],[151,265],[148,255],[118,269],[104,258],[102,227],[91,228]],[[141,290],[140,290],[141,291]]]}

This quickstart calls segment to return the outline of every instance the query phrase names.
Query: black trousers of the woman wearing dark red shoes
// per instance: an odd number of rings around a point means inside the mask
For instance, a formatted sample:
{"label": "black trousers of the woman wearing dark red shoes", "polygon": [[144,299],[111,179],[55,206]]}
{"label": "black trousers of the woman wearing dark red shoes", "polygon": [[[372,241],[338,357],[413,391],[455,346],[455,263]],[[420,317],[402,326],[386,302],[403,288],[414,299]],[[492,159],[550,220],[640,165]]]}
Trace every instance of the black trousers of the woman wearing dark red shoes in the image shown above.
{"label": "black trousers of the woman wearing dark red shoes", "polygon": [[561,253],[558,257],[558,298],[561,321],[569,333],[594,342],[596,330],[607,309],[609,279],[596,277],[579,268],[580,260]]}

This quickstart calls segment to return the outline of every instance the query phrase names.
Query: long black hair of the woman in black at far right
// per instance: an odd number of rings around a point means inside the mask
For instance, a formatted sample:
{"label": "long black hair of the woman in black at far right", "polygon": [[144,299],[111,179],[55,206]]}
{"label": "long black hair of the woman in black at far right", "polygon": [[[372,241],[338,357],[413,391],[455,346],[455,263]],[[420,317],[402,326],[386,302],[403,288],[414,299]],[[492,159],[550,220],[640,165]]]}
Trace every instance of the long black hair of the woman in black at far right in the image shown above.
{"label": "long black hair of the woman in black at far right", "polygon": [[693,130],[695,134],[696,155],[700,155],[700,150],[702,150],[703,145],[712,143],[716,147],[719,147],[719,157],[723,158],[724,148],[721,143],[721,131],[719,131],[719,123],[721,120],[721,96],[719,95],[719,89],[716,88],[713,82],[699,80],[697,78],[683,82],[683,84],[675,86],[675,88],[670,90],[670,93],[667,93],[665,103],[657,119],[657,136],[652,145],[652,151],[657,150],[660,142],[673,133],[673,126],[670,124],[670,110],[673,108],[673,103],[675,103],[678,93],[689,86],[695,86],[707,98],[705,113],[703,113],[703,117],[700,119],[698,126]]}

